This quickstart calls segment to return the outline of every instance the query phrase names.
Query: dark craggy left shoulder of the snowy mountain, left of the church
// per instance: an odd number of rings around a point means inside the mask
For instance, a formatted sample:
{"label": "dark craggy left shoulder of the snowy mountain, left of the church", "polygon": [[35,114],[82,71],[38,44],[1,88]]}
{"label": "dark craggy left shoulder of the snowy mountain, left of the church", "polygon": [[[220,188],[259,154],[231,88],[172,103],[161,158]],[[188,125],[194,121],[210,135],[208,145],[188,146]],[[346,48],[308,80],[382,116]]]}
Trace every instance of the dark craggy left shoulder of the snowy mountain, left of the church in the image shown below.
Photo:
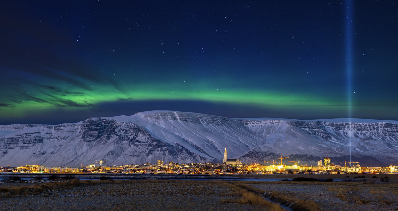
{"label": "dark craggy left shoulder of the snowy mountain, left of the church", "polygon": [[152,137],[140,126],[114,119],[90,118],[80,124],[29,127],[0,137],[0,165],[79,166],[209,162],[179,144]]}

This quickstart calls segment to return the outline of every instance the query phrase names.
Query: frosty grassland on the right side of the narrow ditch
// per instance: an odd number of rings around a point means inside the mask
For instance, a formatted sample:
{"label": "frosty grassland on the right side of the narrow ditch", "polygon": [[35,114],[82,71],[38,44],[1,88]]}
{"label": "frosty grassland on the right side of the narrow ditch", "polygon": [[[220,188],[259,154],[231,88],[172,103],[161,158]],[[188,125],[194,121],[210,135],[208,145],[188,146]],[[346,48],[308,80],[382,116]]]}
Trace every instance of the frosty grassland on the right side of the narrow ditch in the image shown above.
{"label": "frosty grassland on the right side of the narrow ditch", "polygon": [[[257,192],[289,205],[313,203],[313,210],[398,210],[398,183],[266,182],[250,183]],[[301,209],[296,209],[301,210]]]}

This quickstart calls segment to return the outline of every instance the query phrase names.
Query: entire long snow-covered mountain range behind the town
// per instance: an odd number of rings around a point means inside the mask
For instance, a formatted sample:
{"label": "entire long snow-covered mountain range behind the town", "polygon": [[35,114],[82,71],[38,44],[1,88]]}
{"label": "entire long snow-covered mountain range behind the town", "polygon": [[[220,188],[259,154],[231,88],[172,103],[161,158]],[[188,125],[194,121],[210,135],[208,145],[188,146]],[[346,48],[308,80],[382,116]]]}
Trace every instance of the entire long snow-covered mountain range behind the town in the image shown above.
{"label": "entire long snow-covered mountain range behind the town", "polygon": [[[348,123],[351,122],[351,123]],[[80,166],[277,160],[316,165],[359,161],[398,164],[398,121],[334,119],[234,119],[176,111],[90,118],[59,125],[0,125],[0,166]],[[284,161],[285,162],[285,161]]]}

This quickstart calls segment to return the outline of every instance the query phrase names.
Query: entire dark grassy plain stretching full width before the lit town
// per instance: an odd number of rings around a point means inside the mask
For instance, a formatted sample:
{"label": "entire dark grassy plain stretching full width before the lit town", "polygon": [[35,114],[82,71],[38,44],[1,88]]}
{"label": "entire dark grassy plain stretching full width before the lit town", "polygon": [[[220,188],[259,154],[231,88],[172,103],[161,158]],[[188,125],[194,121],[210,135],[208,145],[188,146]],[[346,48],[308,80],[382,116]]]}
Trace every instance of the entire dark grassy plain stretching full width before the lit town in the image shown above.
{"label": "entire dark grassy plain stretching full width before the lit town", "polygon": [[309,211],[398,210],[398,181],[390,177],[389,182],[381,182],[384,175],[380,175],[353,182],[72,180],[2,184],[0,210],[284,210],[279,204]]}

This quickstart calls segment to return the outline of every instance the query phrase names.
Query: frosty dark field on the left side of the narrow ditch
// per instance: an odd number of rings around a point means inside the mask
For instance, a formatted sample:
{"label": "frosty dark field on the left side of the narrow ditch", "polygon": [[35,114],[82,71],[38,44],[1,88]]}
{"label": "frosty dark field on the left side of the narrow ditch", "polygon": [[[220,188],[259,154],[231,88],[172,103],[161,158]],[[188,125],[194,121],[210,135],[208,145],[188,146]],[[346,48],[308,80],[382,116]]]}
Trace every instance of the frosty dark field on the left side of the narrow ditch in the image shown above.
{"label": "frosty dark field on the left side of the narrow ditch", "polygon": [[1,210],[283,210],[223,181],[73,181],[7,188]]}

